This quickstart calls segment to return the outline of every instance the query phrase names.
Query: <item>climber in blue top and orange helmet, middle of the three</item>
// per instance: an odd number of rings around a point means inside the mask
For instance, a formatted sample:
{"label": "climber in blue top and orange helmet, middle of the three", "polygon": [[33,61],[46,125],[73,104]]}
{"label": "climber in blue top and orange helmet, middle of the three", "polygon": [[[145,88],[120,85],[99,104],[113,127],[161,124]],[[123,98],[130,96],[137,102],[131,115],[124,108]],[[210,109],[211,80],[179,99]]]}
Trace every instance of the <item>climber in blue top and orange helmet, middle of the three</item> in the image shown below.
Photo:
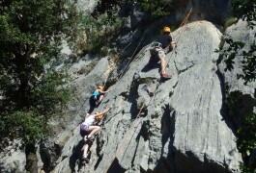
{"label": "climber in blue top and orange helmet, middle of the three", "polygon": [[105,93],[109,92],[110,90],[103,91],[103,86],[97,86],[97,89],[94,91],[93,95],[90,97],[90,110],[88,111],[91,114],[95,108],[99,107],[100,102]]}

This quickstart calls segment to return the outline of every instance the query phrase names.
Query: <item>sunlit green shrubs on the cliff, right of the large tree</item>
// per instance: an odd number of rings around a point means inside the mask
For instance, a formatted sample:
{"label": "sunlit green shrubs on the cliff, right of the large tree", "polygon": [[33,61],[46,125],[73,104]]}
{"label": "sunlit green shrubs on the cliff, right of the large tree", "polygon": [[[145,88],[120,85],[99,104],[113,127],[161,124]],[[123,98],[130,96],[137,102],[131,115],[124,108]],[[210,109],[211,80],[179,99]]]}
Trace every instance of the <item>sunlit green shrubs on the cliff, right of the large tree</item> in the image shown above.
{"label": "sunlit green shrubs on the cliff, right of the large tree", "polygon": [[[125,18],[100,15],[98,18],[92,16],[81,16],[76,33],[77,40],[73,47],[77,55],[85,53],[107,54],[104,45],[111,37],[118,34],[121,26],[125,24]],[[102,48],[104,47],[104,48]]]}

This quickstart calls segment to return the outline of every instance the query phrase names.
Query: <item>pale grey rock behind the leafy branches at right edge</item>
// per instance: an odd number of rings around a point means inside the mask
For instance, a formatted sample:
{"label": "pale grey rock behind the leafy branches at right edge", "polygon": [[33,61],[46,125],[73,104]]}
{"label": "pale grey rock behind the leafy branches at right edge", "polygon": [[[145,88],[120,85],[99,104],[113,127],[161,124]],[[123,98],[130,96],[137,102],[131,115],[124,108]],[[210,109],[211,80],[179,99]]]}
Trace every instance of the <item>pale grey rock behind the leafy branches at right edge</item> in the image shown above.
{"label": "pale grey rock behind the leafy branches at right edge", "polygon": [[[235,41],[242,41],[245,46],[239,52],[248,51],[249,46],[255,42],[256,28],[249,29],[247,23],[239,20],[238,23],[229,27],[226,31],[225,37],[232,37]],[[227,45],[225,44],[224,47]],[[226,89],[226,97],[233,100],[237,99],[238,102],[234,105],[229,105],[229,114],[232,116],[233,121],[237,127],[241,126],[242,116],[248,112],[256,112],[256,83],[251,82],[246,86],[243,84],[242,79],[238,80],[237,75],[242,73],[242,57],[237,56],[234,59],[234,69],[232,71],[224,71],[224,60],[219,63],[219,71],[224,81],[224,87]]]}

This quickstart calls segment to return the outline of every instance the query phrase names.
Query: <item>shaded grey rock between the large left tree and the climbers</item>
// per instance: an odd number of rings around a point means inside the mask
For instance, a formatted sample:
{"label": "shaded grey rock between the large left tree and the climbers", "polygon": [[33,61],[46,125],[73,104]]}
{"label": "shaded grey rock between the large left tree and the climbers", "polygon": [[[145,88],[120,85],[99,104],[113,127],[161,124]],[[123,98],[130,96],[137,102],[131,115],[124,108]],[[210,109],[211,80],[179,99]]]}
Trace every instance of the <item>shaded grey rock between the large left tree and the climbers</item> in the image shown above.
{"label": "shaded grey rock between the large left tree and the climbers", "polygon": [[79,62],[71,63],[69,72],[73,78],[73,100],[60,120],[52,119],[48,124],[54,137],[41,141],[37,146],[39,171],[49,171],[58,162],[63,163],[65,158],[71,157],[72,149],[79,141],[78,130],[74,129],[83,119],[85,112],[89,111],[89,97],[96,86],[104,85],[106,82],[110,72],[108,58],[99,60],[93,55],[86,56]]}

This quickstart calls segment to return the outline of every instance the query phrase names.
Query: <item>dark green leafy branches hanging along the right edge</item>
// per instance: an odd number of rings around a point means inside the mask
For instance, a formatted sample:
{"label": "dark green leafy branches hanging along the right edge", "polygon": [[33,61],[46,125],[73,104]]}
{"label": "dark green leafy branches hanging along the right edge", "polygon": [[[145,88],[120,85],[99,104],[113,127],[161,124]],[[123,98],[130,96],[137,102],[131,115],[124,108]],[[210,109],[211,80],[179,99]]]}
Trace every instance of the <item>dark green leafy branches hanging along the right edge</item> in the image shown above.
{"label": "dark green leafy branches hanging along the right edge", "polygon": [[[235,0],[233,2],[234,15],[238,19],[247,21],[249,29],[253,29],[256,25],[256,3],[254,0]],[[249,82],[253,82],[256,79],[256,45],[255,42],[249,45],[247,50],[244,50],[245,43],[241,41],[233,40],[228,37],[225,47],[220,47],[217,52],[226,58],[226,70],[232,70],[234,68],[234,59],[239,56],[242,57],[242,73],[238,74],[238,79],[244,80],[244,85]],[[235,94],[235,98],[230,98],[227,103],[231,105],[236,112],[241,104],[241,93]],[[237,144],[242,153],[243,163],[240,164],[242,172],[254,172],[255,165],[250,165],[248,159],[253,149],[256,148],[256,114],[249,112],[243,115],[242,126],[238,130]]]}

